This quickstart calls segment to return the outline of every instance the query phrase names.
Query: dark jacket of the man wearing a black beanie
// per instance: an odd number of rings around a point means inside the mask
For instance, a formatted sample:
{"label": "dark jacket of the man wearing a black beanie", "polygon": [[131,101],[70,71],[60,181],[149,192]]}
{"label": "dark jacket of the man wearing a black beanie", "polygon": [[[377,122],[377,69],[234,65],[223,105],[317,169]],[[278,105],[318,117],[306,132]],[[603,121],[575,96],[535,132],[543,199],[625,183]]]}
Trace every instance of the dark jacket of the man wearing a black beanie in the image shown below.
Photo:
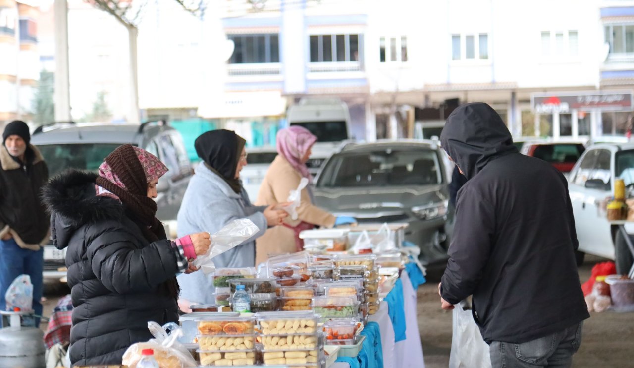
{"label": "dark jacket of the man wearing a black beanie", "polygon": [[32,145],[23,164],[0,145],[0,164],[0,237],[11,232],[18,246],[38,251],[49,239],[49,218],[40,200],[48,168]]}

